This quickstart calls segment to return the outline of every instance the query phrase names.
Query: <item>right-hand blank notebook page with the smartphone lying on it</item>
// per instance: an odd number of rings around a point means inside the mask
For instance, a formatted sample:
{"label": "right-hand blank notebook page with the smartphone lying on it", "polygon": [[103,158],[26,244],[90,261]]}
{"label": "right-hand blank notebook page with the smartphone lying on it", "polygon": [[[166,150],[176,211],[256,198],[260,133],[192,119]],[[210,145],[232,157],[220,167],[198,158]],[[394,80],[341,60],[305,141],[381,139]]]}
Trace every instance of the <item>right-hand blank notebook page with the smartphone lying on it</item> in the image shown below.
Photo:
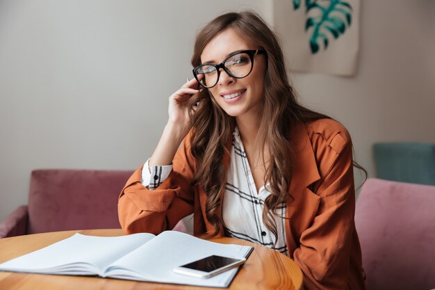
{"label": "right-hand blank notebook page with the smartphone lying on it", "polygon": [[209,255],[246,257],[251,248],[243,245],[213,243],[189,234],[166,231],[113,263],[108,269],[107,275],[126,278],[126,275],[129,275],[128,272],[120,270],[120,268],[124,268],[133,271],[129,279],[134,280],[226,287],[238,268],[233,268],[208,279],[175,274],[172,269]]}

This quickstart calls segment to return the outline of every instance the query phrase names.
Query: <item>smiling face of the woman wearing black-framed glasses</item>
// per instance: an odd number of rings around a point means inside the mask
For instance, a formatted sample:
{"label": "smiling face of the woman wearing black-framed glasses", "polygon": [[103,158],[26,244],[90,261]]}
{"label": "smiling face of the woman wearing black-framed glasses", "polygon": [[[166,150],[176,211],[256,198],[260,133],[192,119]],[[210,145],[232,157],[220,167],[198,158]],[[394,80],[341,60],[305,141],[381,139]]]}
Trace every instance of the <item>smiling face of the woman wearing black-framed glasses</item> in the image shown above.
{"label": "smiling face of the woman wearing black-framed glasses", "polygon": [[[202,63],[221,63],[235,51],[259,49],[249,45],[233,29],[227,29],[208,42],[201,54]],[[243,79],[229,76],[221,69],[219,81],[208,91],[219,106],[236,119],[258,117],[264,95],[265,54],[254,56],[252,72]]]}

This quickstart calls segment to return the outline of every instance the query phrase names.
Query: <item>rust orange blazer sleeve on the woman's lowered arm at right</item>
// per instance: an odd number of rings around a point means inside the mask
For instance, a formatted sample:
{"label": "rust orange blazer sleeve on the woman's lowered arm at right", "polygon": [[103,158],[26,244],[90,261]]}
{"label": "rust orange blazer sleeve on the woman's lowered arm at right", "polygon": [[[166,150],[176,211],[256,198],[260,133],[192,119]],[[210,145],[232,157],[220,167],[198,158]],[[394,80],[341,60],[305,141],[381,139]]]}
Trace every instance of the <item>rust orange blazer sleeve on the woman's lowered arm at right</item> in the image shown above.
{"label": "rust orange blazer sleeve on the woman's lowered arm at right", "polygon": [[[355,191],[352,142],[347,134],[317,148],[321,179],[313,191],[320,197],[311,226],[302,232],[295,262],[304,273],[305,289],[348,289]],[[318,143],[320,143],[318,141]],[[354,250],[354,249],[353,249]]]}

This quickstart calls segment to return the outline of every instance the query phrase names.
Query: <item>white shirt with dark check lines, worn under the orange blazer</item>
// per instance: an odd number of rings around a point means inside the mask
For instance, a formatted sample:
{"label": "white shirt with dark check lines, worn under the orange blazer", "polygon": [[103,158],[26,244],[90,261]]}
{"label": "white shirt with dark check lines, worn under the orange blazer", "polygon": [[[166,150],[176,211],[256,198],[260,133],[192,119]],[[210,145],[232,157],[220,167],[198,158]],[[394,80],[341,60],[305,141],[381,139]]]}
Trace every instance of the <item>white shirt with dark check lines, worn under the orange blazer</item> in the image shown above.
{"label": "white shirt with dark check lines, worn under the orange blazer", "polygon": [[[142,170],[142,184],[152,190],[170,175],[172,165],[149,168],[148,162],[149,160]],[[277,213],[281,217],[273,216],[278,233],[276,245],[274,245],[274,235],[263,224],[264,201],[270,195],[267,187],[267,185],[261,186],[257,193],[245,149],[236,127],[233,132],[227,184],[222,204],[225,233],[227,236],[264,245],[288,255],[285,219],[281,218],[286,216],[285,202],[277,208]]]}

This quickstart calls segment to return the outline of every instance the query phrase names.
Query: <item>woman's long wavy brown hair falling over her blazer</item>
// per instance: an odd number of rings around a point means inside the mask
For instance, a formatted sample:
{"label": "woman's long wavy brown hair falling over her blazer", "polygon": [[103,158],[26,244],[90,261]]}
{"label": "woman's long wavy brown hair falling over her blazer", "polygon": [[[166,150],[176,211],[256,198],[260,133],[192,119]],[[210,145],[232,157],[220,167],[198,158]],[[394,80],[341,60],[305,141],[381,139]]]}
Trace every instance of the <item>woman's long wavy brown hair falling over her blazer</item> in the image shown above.
{"label": "woman's long wavy brown hair falling over her blazer", "polygon": [[[264,49],[267,55],[264,97],[260,106],[263,118],[254,147],[259,149],[266,164],[263,148],[267,140],[269,162],[265,168],[264,183],[270,185],[268,190],[271,194],[264,203],[263,223],[277,238],[277,226],[272,215],[279,216],[277,207],[286,201],[292,180],[294,154],[289,140],[290,130],[297,123],[329,117],[298,104],[288,82],[278,38],[254,12],[227,13],[206,24],[195,40],[191,60],[193,67],[201,64],[204,47],[226,29],[233,29],[252,47]],[[221,208],[220,196],[224,193],[227,179],[222,161],[225,155],[230,154],[227,146],[236,121],[220,108],[208,90],[202,90],[197,97],[191,98],[190,105],[195,108],[195,113],[191,114],[193,133],[190,149],[197,164],[193,184],[202,186],[208,196],[206,217],[215,227],[215,231],[209,234],[215,236],[222,227],[217,211]]]}

